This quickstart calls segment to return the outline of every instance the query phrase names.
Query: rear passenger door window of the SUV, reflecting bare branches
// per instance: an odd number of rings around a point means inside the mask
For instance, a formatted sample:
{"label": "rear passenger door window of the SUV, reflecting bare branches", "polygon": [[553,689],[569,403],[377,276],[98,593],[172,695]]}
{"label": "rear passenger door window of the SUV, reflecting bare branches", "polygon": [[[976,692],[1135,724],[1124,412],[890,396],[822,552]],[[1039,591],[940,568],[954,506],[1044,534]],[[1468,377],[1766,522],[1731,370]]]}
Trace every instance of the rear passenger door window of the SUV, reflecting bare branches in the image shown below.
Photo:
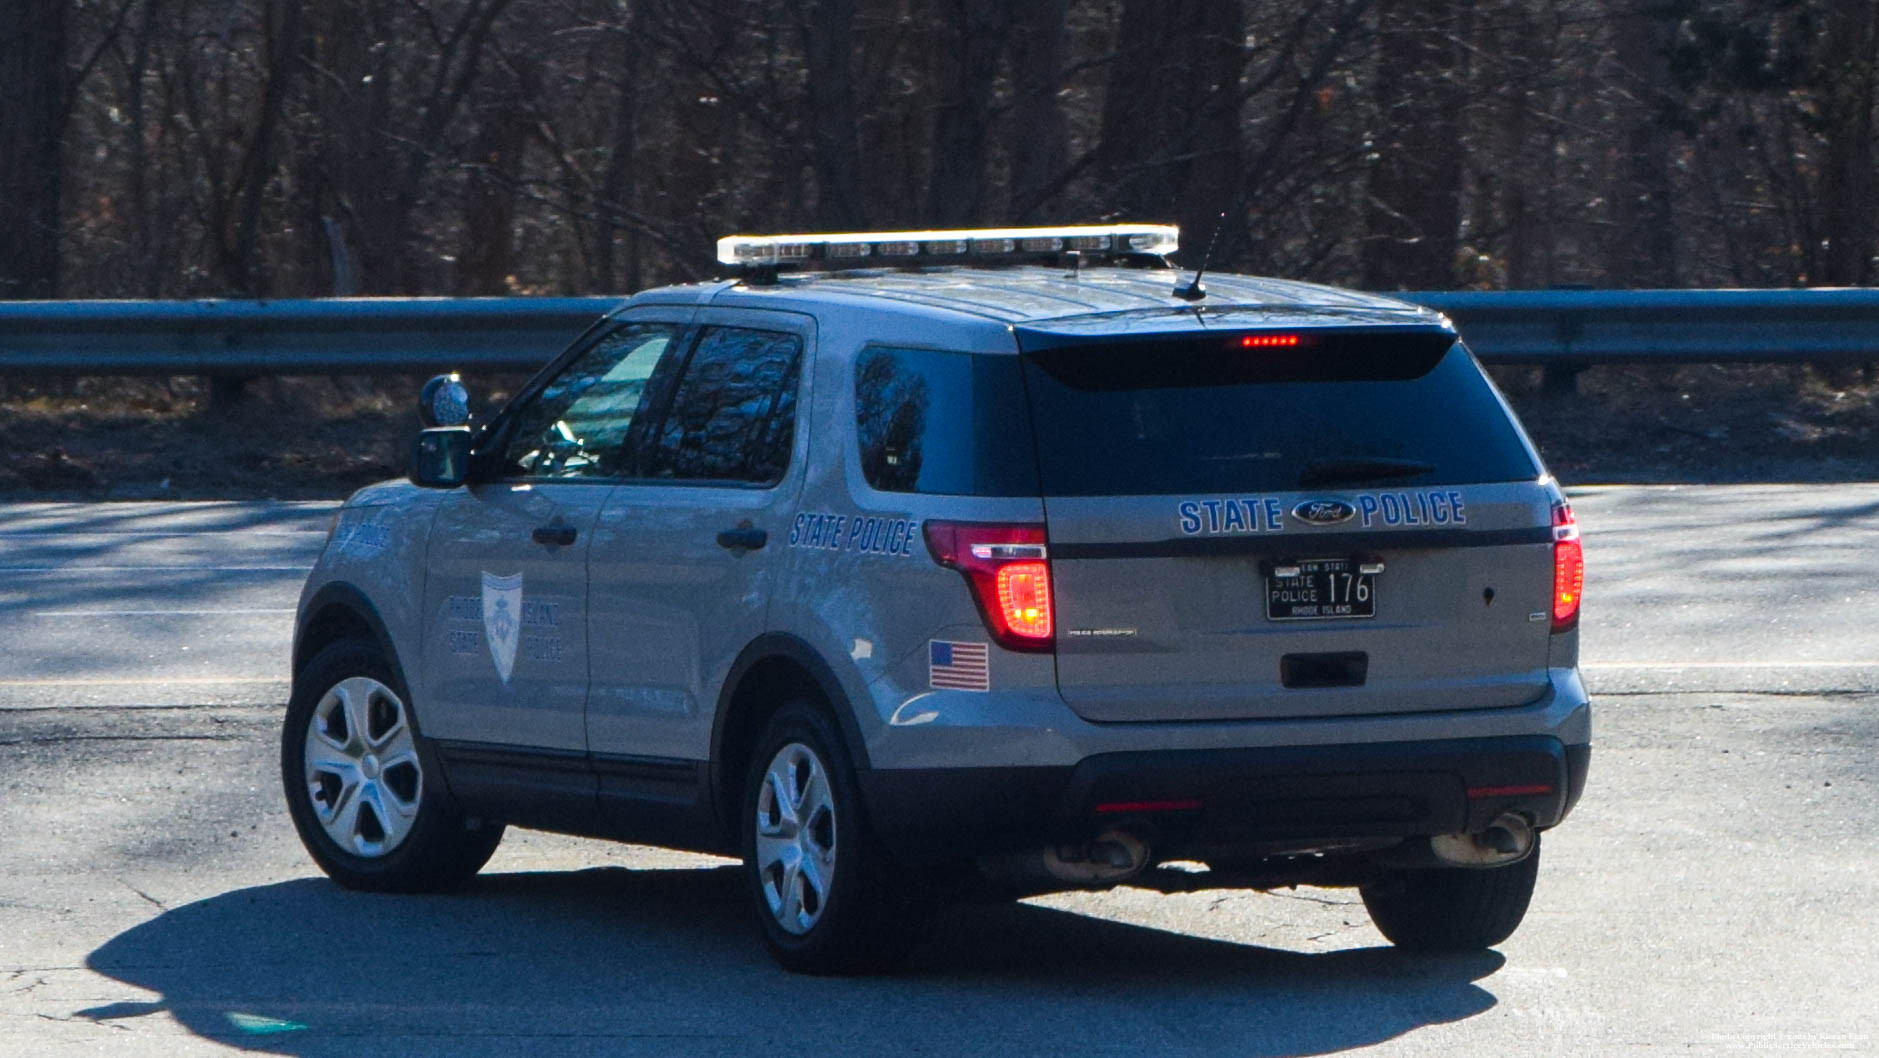
{"label": "rear passenger door window of the SUV, reflecting bare branches", "polygon": [[644,475],[780,481],[795,438],[800,363],[797,335],[705,327],[660,423]]}

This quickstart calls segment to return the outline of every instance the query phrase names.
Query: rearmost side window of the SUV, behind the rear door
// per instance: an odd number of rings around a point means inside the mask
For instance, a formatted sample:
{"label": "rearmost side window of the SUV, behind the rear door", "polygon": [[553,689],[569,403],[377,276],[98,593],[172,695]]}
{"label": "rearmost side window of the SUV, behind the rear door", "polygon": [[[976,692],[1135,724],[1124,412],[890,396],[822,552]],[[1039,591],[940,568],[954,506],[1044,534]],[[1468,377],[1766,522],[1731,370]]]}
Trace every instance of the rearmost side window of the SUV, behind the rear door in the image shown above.
{"label": "rearmost side window of the SUV, behind the rear door", "polygon": [[868,348],[855,361],[861,472],[883,492],[1035,496],[1018,357]]}

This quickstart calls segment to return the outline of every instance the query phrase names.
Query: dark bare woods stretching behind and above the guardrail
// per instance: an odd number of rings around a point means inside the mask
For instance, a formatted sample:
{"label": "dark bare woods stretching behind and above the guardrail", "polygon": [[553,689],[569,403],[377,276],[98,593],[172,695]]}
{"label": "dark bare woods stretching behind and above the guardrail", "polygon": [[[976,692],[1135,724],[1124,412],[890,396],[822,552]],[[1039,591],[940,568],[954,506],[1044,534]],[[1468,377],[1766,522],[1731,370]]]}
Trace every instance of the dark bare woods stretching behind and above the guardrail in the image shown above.
{"label": "dark bare woods stretching behind and above the guardrail", "polygon": [[1374,289],[1873,278],[1873,0],[0,0],[0,297],[616,293],[1171,220]]}

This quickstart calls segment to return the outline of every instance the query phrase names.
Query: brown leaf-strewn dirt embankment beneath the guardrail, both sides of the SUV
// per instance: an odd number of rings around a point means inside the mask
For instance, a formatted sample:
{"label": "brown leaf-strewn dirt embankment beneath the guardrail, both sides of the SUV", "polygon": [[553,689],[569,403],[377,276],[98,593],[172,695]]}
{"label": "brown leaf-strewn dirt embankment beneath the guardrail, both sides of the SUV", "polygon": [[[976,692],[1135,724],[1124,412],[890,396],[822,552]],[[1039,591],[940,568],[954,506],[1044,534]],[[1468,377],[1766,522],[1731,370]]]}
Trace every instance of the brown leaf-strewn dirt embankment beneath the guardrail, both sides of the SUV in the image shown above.
{"label": "brown leaf-strewn dirt embankment beneath the guardrail, both sides of the SUV", "polygon": [[[1879,481],[1860,368],[1593,368],[1571,395],[1496,378],[1569,485]],[[0,381],[0,500],[338,498],[404,474],[419,378]],[[520,381],[470,380],[489,406]]]}

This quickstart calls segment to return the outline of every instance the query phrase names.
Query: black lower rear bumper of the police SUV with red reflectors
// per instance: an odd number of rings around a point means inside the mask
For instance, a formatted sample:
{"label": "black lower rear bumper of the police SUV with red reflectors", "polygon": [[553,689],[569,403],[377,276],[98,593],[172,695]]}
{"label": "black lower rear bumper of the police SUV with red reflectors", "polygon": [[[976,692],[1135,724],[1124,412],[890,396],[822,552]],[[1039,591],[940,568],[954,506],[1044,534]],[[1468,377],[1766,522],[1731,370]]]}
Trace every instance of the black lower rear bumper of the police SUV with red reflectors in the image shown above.
{"label": "black lower rear bumper of the police SUV with red reflectors", "polygon": [[958,859],[1088,840],[1109,827],[1157,855],[1479,831],[1503,812],[1565,819],[1590,746],[1546,735],[1097,754],[1075,767],[861,772],[889,851]]}

